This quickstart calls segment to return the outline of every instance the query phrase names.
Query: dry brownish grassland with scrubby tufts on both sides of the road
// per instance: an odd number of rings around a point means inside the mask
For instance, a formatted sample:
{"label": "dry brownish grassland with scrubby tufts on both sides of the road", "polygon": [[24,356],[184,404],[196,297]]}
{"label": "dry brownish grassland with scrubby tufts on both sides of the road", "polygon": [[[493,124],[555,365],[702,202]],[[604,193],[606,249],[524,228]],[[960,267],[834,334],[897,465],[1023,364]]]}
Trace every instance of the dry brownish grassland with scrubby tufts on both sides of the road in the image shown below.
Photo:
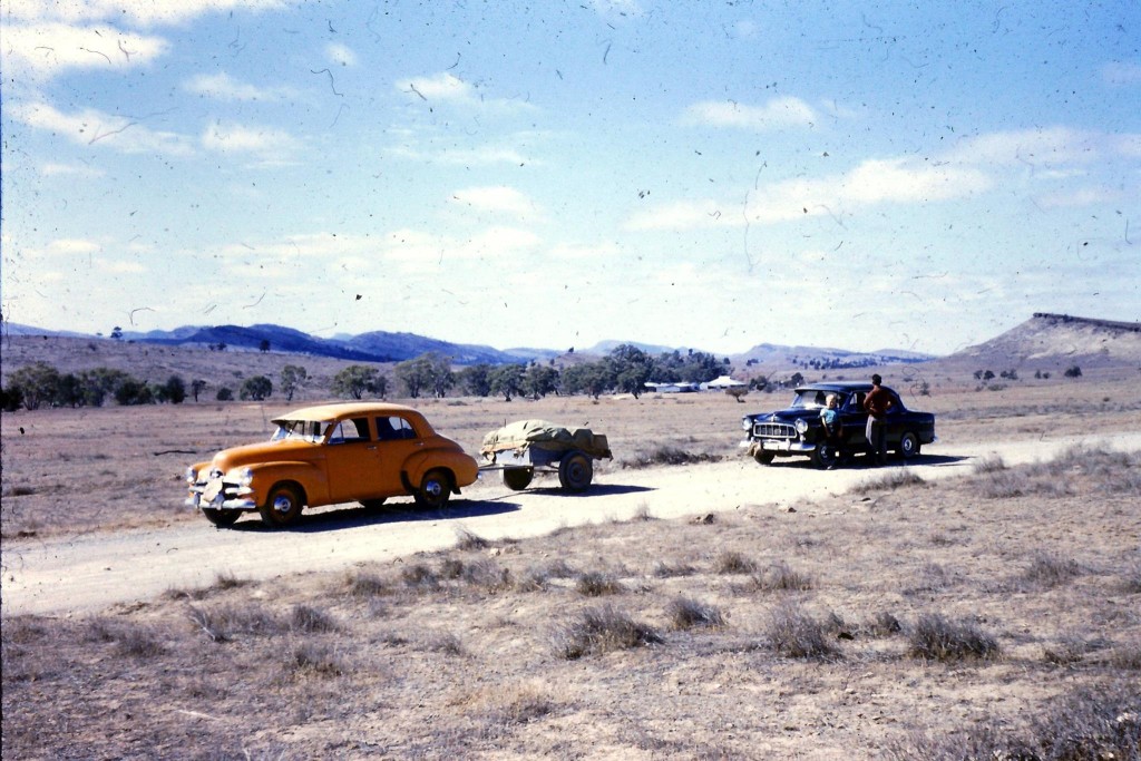
{"label": "dry brownish grassland with scrubby tufts on both sides of the road", "polygon": [[[1045,405],[966,392],[972,415],[941,437],[985,430],[1000,404],[1025,407],[1029,432]],[[930,398],[956,404],[938,384]],[[429,415],[469,448],[488,419],[544,416],[632,451],[653,419],[661,440],[726,455],[743,408],[448,402]],[[169,413],[144,410],[128,430],[114,408],[5,415],[6,549],[201,520],[177,504],[188,455],[153,452],[259,438],[273,411],[187,407],[177,427]],[[84,455],[92,442],[111,459]],[[220,574],[98,616],[6,617],[5,758],[1136,760],[1139,464],[1087,448],[711,525],[605,521],[511,543],[458,532],[446,551],[350,572]],[[981,496],[1003,472],[1022,487]],[[1066,488],[1038,486],[1051,479]],[[76,483],[91,484],[82,501]],[[614,593],[584,594],[588,576]]]}

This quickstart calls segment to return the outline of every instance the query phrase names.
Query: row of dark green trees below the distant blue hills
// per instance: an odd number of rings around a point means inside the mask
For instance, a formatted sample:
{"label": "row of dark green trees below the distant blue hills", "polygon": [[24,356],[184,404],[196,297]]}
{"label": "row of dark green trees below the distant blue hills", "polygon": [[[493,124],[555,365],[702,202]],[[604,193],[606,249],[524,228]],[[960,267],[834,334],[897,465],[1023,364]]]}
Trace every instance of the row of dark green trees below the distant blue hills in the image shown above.
{"label": "row of dark green trees below the distant blue hills", "polygon": [[[391,378],[375,366],[349,365],[332,378],[329,392],[346,399],[387,398],[394,390],[395,380],[398,386],[396,390],[412,399],[443,398],[451,392],[478,397],[502,396],[507,400],[515,397],[537,399],[551,394],[589,394],[598,398],[602,394],[620,392],[638,397],[646,391],[647,381],[703,383],[730,372],[733,366],[728,358],[718,359],[711,354],[693,350],[653,356],[632,345],[618,346],[600,359],[580,362],[563,369],[550,361],[477,364],[453,370],[450,357],[430,351],[397,363],[393,367]],[[308,371],[304,366],[286,364],[278,374],[276,390],[286,402],[291,402],[294,394],[309,381]],[[177,374],[156,383],[111,367],[60,373],[44,362],[37,362],[8,377],[6,386],[0,389],[0,407],[9,412],[19,407],[99,407],[110,400],[124,406],[181,404],[187,398],[197,402],[208,387],[209,383],[204,380],[193,379],[187,383]],[[242,382],[236,389],[236,396],[260,402],[273,396],[274,390],[270,378],[254,375]],[[233,398],[235,389],[228,386],[221,386],[215,392],[215,399],[219,402]]]}

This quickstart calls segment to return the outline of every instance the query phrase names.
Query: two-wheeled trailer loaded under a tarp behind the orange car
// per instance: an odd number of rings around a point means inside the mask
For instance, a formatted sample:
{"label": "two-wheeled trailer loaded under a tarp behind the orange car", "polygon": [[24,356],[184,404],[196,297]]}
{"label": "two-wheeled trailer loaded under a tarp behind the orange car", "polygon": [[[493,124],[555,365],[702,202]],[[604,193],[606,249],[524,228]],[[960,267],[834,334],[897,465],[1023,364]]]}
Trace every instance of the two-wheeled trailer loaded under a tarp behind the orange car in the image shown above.
{"label": "two-wheeled trailer loaded under a tarp behind the orange car", "polygon": [[594,478],[594,461],[610,459],[606,436],[589,428],[566,428],[545,420],[519,420],[484,437],[479,470],[503,473],[516,492],[527,488],[535,472],[558,473],[568,492],[584,492]]}

